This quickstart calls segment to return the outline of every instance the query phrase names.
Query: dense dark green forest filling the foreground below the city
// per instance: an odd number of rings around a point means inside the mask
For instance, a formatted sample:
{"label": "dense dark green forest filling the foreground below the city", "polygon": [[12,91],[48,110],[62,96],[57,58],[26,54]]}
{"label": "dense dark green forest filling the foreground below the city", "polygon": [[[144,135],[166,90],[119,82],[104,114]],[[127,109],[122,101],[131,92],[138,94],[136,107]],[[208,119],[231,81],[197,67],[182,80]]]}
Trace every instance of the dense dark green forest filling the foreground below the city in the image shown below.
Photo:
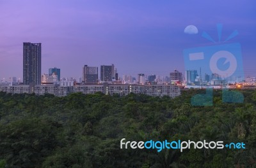
{"label": "dense dark green forest filling the foreground below the city", "polygon": [[[142,94],[67,97],[0,92],[0,167],[256,167],[256,91],[243,103],[191,106],[204,90],[175,99]],[[120,149],[127,141],[243,142],[245,149]]]}

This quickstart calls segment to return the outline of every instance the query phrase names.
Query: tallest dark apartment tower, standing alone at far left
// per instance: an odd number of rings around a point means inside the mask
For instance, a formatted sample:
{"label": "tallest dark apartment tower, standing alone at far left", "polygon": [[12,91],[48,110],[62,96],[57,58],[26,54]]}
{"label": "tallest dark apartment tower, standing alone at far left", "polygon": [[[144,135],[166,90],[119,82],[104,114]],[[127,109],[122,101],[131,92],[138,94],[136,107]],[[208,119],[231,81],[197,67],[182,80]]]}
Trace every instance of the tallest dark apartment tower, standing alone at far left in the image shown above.
{"label": "tallest dark apartment tower, standing alone at far left", "polygon": [[23,83],[41,84],[41,43],[23,43]]}

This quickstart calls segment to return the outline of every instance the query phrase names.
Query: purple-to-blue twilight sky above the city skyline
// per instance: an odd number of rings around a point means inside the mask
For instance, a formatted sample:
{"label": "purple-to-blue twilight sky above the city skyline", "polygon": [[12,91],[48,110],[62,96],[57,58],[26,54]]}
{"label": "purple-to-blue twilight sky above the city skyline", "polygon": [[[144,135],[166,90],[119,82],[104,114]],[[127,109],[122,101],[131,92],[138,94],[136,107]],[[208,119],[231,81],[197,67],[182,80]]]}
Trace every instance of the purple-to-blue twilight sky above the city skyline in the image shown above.
{"label": "purple-to-blue twilight sky above the city skyline", "polygon": [[[50,67],[78,78],[84,65],[115,64],[120,76],[184,72],[183,50],[240,43],[244,73],[256,76],[256,1],[0,0],[0,78],[22,78],[23,42],[42,43],[42,74]],[[184,33],[195,25],[197,34]],[[216,44],[215,44],[216,45]],[[218,45],[218,44],[217,44]]]}

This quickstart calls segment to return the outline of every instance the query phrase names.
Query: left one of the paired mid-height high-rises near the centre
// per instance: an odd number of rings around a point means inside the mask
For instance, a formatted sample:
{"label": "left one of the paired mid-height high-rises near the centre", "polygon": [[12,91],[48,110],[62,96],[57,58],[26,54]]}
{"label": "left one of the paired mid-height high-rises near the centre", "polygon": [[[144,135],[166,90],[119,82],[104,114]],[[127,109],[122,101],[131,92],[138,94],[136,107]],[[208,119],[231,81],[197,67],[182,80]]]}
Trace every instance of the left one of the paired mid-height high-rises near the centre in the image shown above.
{"label": "left one of the paired mid-height high-rises near the centre", "polygon": [[84,65],[82,81],[84,83],[98,83],[98,67]]}

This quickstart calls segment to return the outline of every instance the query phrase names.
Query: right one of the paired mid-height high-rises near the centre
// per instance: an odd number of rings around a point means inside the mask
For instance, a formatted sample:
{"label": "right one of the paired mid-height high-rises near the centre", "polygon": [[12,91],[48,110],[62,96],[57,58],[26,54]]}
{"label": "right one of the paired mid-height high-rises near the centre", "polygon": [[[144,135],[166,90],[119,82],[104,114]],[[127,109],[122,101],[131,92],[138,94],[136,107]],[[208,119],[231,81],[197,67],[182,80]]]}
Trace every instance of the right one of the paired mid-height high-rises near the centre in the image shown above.
{"label": "right one of the paired mid-height high-rises near the centre", "polygon": [[112,81],[115,79],[115,66],[100,66],[100,81]]}

